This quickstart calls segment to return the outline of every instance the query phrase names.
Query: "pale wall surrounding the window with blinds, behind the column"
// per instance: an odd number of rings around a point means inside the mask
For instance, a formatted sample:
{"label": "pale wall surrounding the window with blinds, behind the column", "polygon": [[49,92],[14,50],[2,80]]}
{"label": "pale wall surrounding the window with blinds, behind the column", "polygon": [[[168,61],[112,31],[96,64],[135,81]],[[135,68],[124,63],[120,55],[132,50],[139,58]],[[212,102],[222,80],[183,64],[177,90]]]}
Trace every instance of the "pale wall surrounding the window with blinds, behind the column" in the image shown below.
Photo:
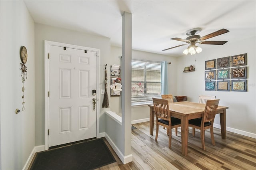
{"label": "pale wall surrounding the window with blinds, behind the column", "polygon": [[[111,60],[112,64],[121,65],[122,48],[111,46]],[[168,64],[168,92],[170,94],[176,94],[176,65],[177,58],[161,55],[156,53],[148,53],[144,51],[132,50],[132,59],[145,59],[150,61],[167,61],[171,62]],[[122,67],[122,65],[121,65]],[[122,78],[122,77],[121,77]],[[112,96],[110,97],[110,110],[121,116],[121,97]],[[132,121],[147,119],[149,118],[149,108],[147,105],[132,107]]]}

